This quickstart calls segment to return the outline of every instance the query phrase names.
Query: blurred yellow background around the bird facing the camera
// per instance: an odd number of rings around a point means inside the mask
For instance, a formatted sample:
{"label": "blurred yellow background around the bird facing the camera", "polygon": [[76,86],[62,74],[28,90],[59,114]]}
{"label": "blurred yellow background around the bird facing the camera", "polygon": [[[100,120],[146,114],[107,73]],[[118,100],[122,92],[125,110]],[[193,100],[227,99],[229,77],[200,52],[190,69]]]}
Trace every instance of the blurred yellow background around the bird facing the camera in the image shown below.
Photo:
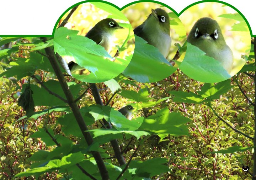
{"label": "blurred yellow background around the bird facing the camera", "polygon": [[238,24],[239,21],[218,17],[221,14],[227,13],[234,14],[238,12],[229,6],[218,2],[202,2],[185,10],[180,15],[180,19],[185,26],[187,35],[189,34],[194,23],[196,23],[196,21],[202,17],[210,17],[219,23],[225,41],[234,54],[233,69],[230,73],[230,75],[233,76],[245,64],[245,60],[241,58],[241,55],[246,54],[249,56],[251,48],[251,35],[248,27],[246,27],[247,31],[231,31],[231,27],[234,24]]}

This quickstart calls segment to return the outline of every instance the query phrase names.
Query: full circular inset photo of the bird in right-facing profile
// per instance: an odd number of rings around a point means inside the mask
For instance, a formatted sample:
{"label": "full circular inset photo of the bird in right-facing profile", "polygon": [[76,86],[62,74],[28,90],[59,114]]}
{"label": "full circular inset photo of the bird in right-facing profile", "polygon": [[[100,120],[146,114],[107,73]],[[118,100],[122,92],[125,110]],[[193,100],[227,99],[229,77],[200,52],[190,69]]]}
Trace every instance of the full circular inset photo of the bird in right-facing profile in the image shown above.
{"label": "full circular inset photo of the bird in right-facing profile", "polygon": [[103,2],[70,7],[54,32],[54,51],[63,68],[84,82],[104,82],[119,75],[128,66],[134,46],[126,16]]}

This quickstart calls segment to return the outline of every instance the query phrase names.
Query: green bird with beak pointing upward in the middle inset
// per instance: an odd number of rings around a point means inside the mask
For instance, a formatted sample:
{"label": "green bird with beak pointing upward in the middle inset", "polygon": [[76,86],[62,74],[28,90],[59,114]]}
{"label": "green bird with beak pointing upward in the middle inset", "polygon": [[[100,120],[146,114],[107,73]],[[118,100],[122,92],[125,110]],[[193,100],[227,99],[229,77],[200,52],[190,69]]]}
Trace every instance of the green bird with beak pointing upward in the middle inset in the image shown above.
{"label": "green bird with beak pointing upward in the middle inset", "polygon": [[158,48],[166,58],[171,47],[170,19],[167,12],[161,8],[151,9],[151,12],[146,21],[133,31],[135,35]]}

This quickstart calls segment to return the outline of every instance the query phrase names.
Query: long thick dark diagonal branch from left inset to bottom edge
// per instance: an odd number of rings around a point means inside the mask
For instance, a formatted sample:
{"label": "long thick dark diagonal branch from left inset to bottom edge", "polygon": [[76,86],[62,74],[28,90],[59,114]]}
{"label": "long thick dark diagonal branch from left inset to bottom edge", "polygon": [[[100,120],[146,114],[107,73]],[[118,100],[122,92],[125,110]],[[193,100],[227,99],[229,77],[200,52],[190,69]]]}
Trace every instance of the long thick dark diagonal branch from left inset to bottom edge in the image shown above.
{"label": "long thick dark diagonal branch from left inset to bottom edge", "polygon": [[[46,37],[41,37],[41,39],[44,42],[47,41]],[[92,138],[90,132],[87,132],[88,128],[85,124],[84,118],[81,115],[81,112],[78,108],[78,105],[75,103],[75,100],[74,100],[74,97],[71,93],[71,90],[68,87],[68,84],[67,84],[67,82],[66,82],[66,80],[65,80],[65,78],[62,74],[60,66],[57,63],[57,60],[55,59],[55,57],[56,57],[55,53],[52,50],[52,48],[50,48],[50,47],[45,48],[45,51],[46,51],[46,54],[48,56],[48,59],[49,59],[51,65],[54,69],[54,72],[55,72],[55,74],[56,74],[56,76],[59,80],[60,86],[62,87],[63,92],[64,92],[64,94],[65,94],[65,96],[68,100],[68,104],[69,104],[71,110],[74,113],[76,122],[78,123],[79,128],[81,129],[81,132],[82,132],[87,144],[90,146],[92,143],[94,143],[93,138]],[[95,158],[95,161],[96,161],[98,169],[100,171],[102,180],[109,180],[110,177],[108,175],[106,166],[104,164],[104,161],[103,161],[100,153],[97,152],[97,151],[91,151],[91,153],[92,153],[92,156]]]}

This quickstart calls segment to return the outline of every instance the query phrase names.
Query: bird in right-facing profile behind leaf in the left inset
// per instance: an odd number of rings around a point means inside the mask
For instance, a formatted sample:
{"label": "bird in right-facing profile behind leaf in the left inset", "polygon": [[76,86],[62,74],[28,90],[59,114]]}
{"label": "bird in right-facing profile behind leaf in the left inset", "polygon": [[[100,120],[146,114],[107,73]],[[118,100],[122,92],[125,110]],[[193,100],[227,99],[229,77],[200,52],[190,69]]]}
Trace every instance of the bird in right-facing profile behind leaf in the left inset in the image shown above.
{"label": "bird in right-facing profile behind leaf in the left inset", "polygon": [[[95,26],[88,31],[85,37],[88,37],[89,39],[96,42],[96,44],[101,45],[109,53],[112,47],[114,32],[117,29],[124,28],[121,27],[114,19],[106,18],[95,24]],[[71,72],[79,69],[84,69],[80,66],[76,67],[78,65],[74,62],[70,62],[68,65]]]}

